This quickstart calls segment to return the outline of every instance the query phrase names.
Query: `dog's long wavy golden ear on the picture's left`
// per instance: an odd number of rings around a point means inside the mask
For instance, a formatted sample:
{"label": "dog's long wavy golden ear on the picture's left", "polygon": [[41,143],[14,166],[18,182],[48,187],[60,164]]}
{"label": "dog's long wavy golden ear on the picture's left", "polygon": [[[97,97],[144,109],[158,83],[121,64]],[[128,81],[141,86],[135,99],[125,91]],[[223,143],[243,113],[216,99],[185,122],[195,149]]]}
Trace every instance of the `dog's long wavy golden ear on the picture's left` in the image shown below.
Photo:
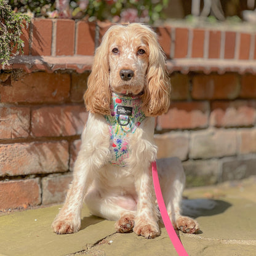
{"label": "dog's long wavy golden ear on the picture's left", "polygon": [[84,102],[87,111],[98,114],[110,114],[110,86],[108,66],[108,41],[111,31],[103,36],[102,44],[97,48],[92,65],[92,72],[88,78]]}

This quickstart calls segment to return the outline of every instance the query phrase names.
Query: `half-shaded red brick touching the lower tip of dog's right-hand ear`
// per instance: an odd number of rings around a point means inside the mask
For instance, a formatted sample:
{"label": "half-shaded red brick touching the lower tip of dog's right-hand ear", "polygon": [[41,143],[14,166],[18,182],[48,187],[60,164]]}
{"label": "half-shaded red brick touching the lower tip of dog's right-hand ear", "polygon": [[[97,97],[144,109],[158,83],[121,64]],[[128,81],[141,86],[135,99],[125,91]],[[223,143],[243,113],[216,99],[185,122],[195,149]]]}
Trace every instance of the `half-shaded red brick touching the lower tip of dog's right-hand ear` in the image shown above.
{"label": "half-shaded red brick touching the lower tip of dog's right-hand ear", "polygon": [[166,114],[159,116],[162,129],[194,129],[208,125],[209,104],[207,102],[173,102]]}

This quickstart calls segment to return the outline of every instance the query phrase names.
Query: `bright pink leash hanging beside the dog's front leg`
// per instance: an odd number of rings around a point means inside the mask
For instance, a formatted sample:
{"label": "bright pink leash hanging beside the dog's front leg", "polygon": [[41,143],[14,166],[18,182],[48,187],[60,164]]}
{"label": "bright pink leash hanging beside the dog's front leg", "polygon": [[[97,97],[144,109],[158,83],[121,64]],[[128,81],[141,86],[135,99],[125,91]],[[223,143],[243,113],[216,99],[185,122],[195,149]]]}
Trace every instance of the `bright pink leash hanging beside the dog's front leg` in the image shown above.
{"label": "bright pink leash hanging beside the dog's front leg", "polygon": [[152,175],[153,175],[153,182],[154,182],[154,191],[156,193],[156,199],[158,200],[159,210],[162,215],[162,220],[164,222],[164,226],[166,227],[167,233],[169,234],[170,241],[174,245],[175,250],[177,251],[179,256],[188,256],[185,248],[182,245],[180,239],[172,226],[172,222],[170,222],[169,215],[166,210],[166,205],[164,204],[164,199],[162,198],[161,187],[159,184],[158,178],[158,169],[156,168],[156,162],[152,162]]}

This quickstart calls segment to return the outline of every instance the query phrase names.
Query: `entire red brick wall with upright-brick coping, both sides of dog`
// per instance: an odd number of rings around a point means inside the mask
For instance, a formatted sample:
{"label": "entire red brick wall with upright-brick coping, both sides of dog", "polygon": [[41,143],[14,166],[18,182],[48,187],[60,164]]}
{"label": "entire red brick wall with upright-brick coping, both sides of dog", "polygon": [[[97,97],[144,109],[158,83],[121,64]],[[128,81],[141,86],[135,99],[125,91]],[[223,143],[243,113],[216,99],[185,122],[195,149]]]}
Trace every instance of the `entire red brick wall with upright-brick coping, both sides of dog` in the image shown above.
{"label": "entire red brick wall with upright-brick coping, both sides of dog", "polygon": [[[34,19],[25,55],[0,74],[0,210],[61,202],[87,120],[82,95],[110,24]],[[157,118],[158,157],[178,156],[188,185],[256,174],[255,34],[154,28],[172,104]]]}

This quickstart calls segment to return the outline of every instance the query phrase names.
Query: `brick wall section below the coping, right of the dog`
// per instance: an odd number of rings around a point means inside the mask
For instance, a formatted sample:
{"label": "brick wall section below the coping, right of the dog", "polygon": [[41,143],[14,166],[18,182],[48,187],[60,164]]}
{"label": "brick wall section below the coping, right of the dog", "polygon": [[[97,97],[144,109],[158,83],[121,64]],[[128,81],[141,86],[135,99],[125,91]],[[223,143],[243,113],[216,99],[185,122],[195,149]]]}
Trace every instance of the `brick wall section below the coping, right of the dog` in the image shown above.
{"label": "brick wall section below the coping, right of the dog", "polygon": [[256,174],[256,76],[173,73],[172,103],[158,117],[158,157],[182,159],[190,185]]}

